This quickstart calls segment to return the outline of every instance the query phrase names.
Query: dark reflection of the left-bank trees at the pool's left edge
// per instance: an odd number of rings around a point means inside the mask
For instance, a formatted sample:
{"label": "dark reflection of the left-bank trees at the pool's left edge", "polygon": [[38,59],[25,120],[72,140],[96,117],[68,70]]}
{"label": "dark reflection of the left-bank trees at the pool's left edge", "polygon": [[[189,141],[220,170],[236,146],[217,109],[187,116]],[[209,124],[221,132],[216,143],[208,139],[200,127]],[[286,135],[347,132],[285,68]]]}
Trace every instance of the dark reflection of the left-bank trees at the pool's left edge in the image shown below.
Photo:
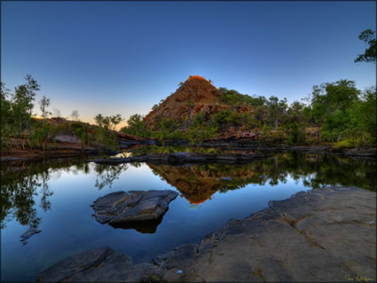
{"label": "dark reflection of the left-bank trees at the pool's left edge", "polygon": [[[3,165],[3,164],[2,164]],[[75,166],[73,166],[75,165]],[[49,187],[51,176],[58,175],[61,169],[66,171],[89,169],[82,161],[55,160],[39,162],[12,162],[1,167],[1,228],[13,218],[22,225],[36,228],[41,224],[41,217],[37,216],[35,198],[41,197],[43,211],[51,209]]]}

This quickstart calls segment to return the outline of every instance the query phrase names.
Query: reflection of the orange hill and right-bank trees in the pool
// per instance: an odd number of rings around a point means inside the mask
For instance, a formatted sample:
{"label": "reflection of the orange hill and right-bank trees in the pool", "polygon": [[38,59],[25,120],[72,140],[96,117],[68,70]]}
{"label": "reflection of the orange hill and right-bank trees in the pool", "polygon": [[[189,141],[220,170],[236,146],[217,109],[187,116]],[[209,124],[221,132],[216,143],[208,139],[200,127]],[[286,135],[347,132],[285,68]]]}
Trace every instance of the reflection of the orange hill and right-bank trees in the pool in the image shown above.
{"label": "reflection of the orange hill and right-bank trees in the pool", "polygon": [[[248,184],[271,186],[291,177],[304,186],[352,185],[375,190],[376,169],[369,161],[337,158],[328,154],[279,153],[247,164],[195,164],[173,166],[148,164],[153,173],[173,185],[192,204],[216,193],[240,189]],[[224,181],[221,177],[231,177]]]}

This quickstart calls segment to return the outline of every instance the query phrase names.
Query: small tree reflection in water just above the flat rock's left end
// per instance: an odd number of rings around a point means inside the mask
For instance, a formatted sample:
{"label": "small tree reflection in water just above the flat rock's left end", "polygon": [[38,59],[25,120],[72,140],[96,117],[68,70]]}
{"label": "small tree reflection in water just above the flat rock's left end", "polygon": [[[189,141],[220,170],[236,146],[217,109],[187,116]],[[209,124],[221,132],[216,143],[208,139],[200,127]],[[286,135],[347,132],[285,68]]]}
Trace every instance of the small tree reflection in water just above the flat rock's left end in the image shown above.
{"label": "small tree reflection in water just above the flat rock's left end", "polygon": [[97,172],[95,186],[98,187],[99,190],[101,190],[106,185],[111,188],[114,180],[119,179],[122,171],[128,169],[128,165],[126,163],[122,165],[96,164],[94,169]]}

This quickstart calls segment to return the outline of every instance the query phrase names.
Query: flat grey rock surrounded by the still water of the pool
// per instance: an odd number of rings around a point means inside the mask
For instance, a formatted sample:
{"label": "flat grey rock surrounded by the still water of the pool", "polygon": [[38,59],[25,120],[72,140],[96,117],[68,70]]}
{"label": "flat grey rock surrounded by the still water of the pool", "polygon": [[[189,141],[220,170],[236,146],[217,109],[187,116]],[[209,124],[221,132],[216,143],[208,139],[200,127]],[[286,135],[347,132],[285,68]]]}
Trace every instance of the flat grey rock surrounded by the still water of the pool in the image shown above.
{"label": "flat grey rock surrounded by the still water of the pool", "polygon": [[94,216],[101,224],[126,224],[157,220],[177,198],[174,191],[129,191],[108,193],[94,201]]}

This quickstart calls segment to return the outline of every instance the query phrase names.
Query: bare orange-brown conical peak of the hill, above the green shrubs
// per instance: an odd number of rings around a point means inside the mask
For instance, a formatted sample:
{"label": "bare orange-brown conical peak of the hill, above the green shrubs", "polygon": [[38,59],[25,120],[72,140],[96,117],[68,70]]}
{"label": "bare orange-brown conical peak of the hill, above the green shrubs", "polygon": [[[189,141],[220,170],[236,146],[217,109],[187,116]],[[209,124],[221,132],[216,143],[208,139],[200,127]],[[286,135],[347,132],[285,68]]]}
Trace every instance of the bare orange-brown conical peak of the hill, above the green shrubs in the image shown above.
{"label": "bare orange-brown conical peak of the hill, above the green shrubs", "polygon": [[[252,114],[249,106],[232,106],[221,100],[221,94],[209,81],[199,75],[190,76],[173,94],[163,100],[145,116],[146,127],[155,129],[162,119],[174,120],[186,130],[198,113],[210,117],[220,111],[231,110],[240,114]],[[242,129],[238,129],[242,130]]]}

